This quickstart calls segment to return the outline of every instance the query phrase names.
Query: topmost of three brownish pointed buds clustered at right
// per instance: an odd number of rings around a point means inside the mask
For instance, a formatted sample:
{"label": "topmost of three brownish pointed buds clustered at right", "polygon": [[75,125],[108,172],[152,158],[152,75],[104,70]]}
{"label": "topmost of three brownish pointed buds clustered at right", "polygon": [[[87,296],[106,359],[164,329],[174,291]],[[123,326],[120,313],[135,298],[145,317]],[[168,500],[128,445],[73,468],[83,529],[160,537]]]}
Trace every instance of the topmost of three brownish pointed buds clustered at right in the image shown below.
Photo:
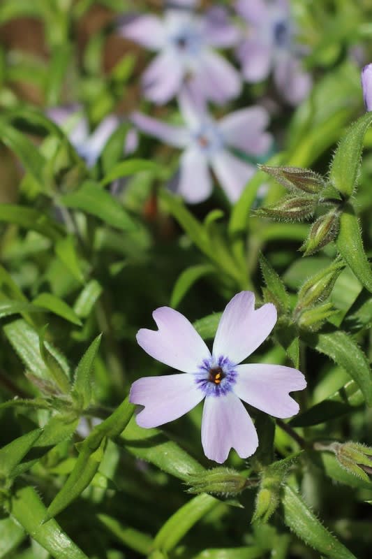
{"label": "topmost of three brownish pointed buds clustered at right", "polygon": [[311,169],[301,167],[271,167],[260,165],[260,169],[274,177],[289,190],[301,190],[308,194],[317,194],[325,187],[325,180]]}

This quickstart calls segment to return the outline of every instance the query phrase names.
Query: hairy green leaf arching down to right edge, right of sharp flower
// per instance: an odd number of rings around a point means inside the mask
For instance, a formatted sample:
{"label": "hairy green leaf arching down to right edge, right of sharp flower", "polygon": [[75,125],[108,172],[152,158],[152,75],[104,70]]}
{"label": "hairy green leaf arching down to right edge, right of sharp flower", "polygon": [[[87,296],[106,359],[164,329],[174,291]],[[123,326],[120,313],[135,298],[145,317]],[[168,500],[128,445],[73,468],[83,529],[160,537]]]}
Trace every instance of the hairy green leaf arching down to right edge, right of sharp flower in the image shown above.
{"label": "hairy green leaf arching down to right edge, right of sharp flower", "polygon": [[304,335],[303,339],[345,369],[361,389],[366,404],[372,406],[372,372],[362,349],[343,331]]}

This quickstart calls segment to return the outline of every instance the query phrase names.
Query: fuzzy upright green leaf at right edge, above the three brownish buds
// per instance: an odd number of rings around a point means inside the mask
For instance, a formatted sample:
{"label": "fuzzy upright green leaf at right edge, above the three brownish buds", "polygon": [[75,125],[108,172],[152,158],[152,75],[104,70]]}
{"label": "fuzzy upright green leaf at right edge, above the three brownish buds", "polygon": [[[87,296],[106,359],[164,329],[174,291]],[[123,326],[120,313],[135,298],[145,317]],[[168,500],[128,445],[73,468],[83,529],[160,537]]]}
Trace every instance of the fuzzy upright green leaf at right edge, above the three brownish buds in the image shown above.
{"label": "fuzzy upright green leaf at right edge, above the three brownish buds", "polygon": [[334,154],[329,179],[346,198],[350,198],[357,186],[364,134],[371,123],[371,112],[366,112],[348,128]]}

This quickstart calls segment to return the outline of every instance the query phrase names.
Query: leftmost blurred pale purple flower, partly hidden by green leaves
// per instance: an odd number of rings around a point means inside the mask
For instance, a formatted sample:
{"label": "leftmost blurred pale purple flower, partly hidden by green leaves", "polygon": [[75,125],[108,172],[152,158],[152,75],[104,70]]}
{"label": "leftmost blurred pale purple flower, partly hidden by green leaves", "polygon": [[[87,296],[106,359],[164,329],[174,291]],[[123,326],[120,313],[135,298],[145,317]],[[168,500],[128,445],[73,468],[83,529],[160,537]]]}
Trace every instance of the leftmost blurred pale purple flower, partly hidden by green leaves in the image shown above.
{"label": "leftmost blurred pale purple flower, partly hidden by green leaves", "polygon": [[[61,126],[68,135],[70,143],[77,153],[93,167],[103,152],[107,140],[117,129],[121,120],[115,115],[108,115],[93,132],[89,131],[88,120],[79,107],[54,107],[47,110],[50,119]],[[137,148],[137,133],[131,129],[126,136],[124,154],[130,154]]]}

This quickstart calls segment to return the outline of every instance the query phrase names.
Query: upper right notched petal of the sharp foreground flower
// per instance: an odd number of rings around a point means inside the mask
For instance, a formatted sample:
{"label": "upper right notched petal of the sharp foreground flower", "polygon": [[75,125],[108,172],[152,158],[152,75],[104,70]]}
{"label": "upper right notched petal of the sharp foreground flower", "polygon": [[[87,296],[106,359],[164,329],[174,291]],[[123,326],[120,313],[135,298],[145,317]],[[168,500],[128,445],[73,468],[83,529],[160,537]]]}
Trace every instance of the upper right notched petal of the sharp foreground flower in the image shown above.
{"label": "upper right notched petal of the sharp foreground flower", "polygon": [[276,323],[276,308],[266,303],[254,310],[254,305],[252,291],[241,291],[230,300],[214,339],[215,358],[226,355],[232,363],[240,363],[266,340]]}

